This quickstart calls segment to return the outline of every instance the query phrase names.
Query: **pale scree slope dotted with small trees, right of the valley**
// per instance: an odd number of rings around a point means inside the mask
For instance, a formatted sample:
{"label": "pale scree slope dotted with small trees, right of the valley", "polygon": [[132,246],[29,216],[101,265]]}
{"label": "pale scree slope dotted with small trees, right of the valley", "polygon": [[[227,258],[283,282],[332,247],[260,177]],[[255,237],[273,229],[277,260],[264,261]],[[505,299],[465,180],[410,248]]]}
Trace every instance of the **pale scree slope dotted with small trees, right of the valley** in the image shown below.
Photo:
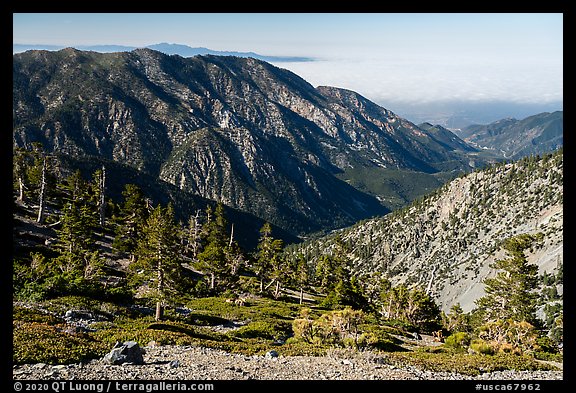
{"label": "pale scree slope dotted with small trees, right of the valley", "polygon": [[353,269],[429,290],[447,310],[469,311],[483,295],[490,264],[512,236],[542,234],[528,260],[540,272],[563,261],[563,153],[492,165],[459,177],[409,207],[295,247],[309,260],[337,238]]}

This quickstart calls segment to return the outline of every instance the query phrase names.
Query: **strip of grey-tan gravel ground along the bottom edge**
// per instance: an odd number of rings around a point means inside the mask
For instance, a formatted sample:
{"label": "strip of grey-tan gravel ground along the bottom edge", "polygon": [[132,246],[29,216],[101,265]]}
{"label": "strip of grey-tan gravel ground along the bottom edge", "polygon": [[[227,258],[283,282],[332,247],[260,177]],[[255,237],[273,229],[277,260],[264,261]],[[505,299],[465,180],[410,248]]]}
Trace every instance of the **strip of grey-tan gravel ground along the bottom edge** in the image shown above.
{"label": "strip of grey-tan gravel ground along the bottom edge", "polygon": [[14,366],[15,380],[562,380],[562,371],[500,371],[480,376],[386,364],[381,355],[245,356],[201,347],[145,347],[144,365]]}

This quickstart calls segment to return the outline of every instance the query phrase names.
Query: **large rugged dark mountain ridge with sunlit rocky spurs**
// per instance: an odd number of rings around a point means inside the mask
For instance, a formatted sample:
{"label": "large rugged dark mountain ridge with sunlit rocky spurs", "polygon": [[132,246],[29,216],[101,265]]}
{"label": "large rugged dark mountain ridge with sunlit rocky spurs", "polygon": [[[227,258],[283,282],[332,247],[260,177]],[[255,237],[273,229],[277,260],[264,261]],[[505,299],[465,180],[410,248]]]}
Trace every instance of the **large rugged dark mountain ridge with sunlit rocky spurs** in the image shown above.
{"label": "large rugged dark mountain ridge with sunlit rocky spurs", "polygon": [[[297,235],[389,211],[335,176],[349,168],[471,167],[465,154],[361,95],[314,88],[256,59],[73,48],[13,58],[16,145],[116,160]],[[204,131],[210,142],[194,137],[204,129],[220,131]],[[211,166],[222,173],[216,183]],[[249,194],[257,196],[250,203],[234,197]]]}

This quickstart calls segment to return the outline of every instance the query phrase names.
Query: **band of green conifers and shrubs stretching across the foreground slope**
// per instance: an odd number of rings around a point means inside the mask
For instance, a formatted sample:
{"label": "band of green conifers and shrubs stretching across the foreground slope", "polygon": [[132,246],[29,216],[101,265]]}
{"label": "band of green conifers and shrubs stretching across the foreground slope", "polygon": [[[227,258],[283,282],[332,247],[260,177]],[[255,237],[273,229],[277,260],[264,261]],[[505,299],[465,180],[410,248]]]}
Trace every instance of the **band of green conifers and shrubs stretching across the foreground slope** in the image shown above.
{"label": "band of green conifers and shrubs stretching across the foreground slope", "polygon": [[[15,150],[13,175],[18,220],[54,232],[44,244],[17,248],[13,290],[19,300],[75,295],[141,304],[154,308],[160,322],[195,299],[242,304],[257,296],[300,304],[284,333],[308,345],[391,348],[382,326],[445,336],[447,348],[483,354],[546,358],[563,342],[561,296],[552,289],[562,283],[562,270],[539,276],[525,256],[542,240],[538,234],[502,244],[506,257],[494,264],[498,274],[484,281],[486,295],[472,312],[454,304],[444,313],[425,288],[352,272],[348,246],[338,239],[309,259],[286,252],[266,223],[256,248],[242,249],[221,203],[180,222],[171,203],[155,205],[134,184],[125,184],[122,200],[114,202],[106,195],[105,167],[90,178],[79,171],[62,175],[39,144]],[[546,289],[551,301],[544,319],[536,315],[541,292],[535,288]]]}

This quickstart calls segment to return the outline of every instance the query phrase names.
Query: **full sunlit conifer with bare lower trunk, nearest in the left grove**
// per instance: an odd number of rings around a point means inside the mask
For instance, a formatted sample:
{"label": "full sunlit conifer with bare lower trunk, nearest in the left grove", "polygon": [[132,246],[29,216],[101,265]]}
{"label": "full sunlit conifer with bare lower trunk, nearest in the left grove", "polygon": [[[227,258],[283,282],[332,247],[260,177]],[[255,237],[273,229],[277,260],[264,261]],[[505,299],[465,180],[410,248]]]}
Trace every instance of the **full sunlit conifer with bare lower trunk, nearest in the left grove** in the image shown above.
{"label": "full sunlit conifer with bare lower trunk, nearest in the left grove", "polygon": [[174,301],[182,282],[178,227],[174,210],[157,206],[142,228],[137,244],[137,260],[130,264],[133,285],[147,284],[144,296],[156,302],[156,320],[163,318],[164,307]]}

